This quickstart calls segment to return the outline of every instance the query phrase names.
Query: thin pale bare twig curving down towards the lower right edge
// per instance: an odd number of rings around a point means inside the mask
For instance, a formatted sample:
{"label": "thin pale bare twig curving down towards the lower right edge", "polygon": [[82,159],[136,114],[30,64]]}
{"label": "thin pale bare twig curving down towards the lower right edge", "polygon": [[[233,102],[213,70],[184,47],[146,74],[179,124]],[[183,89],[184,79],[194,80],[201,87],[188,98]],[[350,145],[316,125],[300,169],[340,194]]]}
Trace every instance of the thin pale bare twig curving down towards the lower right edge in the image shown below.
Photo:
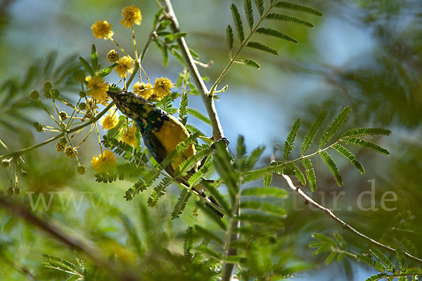
{"label": "thin pale bare twig curving down towards the lower right edge", "polygon": [[[275,152],[273,152],[273,154],[271,155],[271,162],[276,161],[276,157],[275,157]],[[378,247],[381,247],[387,251],[390,251],[391,253],[396,254],[396,250],[392,249],[392,247],[389,247],[385,244],[381,244],[380,242],[373,240],[371,237],[368,237],[366,235],[364,235],[363,233],[360,233],[358,230],[356,230],[355,228],[353,228],[352,226],[350,226],[349,224],[345,223],[345,221],[342,221],[340,218],[338,218],[338,216],[335,216],[335,214],[333,213],[333,211],[331,211],[331,209],[328,209],[324,206],[322,206],[321,204],[319,204],[318,202],[315,202],[311,197],[309,197],[303,190],[302,188],[300,188],[299,186],[295,186],[293,184],[293,181],[291,180],[291,178],[285,174],[281,174],[281,173],[276,173],[279,174],[281,176],[283,176],[283,178],[287,181],[288,187],[293,190],[294,192],[298,193],[298,195],[300,195],[303,199],[305,199],[305,201],[309,204],[312,204],[314,207],[320,209],[321,211],[324,211],[324,213],[328,214],[328,216],[330,216],[331,218],[333,218],[334,221],[337,221],[338,223],[340,223],[343,228],[352,231],[352,233],[354,233],[355,235],[358,235],[360,237],[363,237],[365,240],[369,241],[371,244],[374,244]],[[413,256],[409,253],[407,253],[406,251],[403,251],[404,254],[406,256],[408,256],[410,259],[412,259],[413,261],[416,261],[417,263],[422,264],[422,259],[419,259],[416,256]]]}

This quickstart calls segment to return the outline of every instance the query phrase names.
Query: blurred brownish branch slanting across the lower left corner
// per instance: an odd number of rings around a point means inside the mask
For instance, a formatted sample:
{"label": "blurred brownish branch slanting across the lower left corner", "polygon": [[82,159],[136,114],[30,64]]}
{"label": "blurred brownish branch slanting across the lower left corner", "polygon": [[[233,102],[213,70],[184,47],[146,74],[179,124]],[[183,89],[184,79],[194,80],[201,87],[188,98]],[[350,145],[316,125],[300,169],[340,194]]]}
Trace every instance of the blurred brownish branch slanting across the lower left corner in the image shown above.
{"label": "blurred brownish branch slanting across the lower left corner", "polygon": [[79,251],[84,251],[89,258],[94,261],[96,266],[105,268],[108,272],[114,275],[117,280],[122,281],[136,281],[141,280],[141,278],[136,277],[136,275],[129,273],[129,270],[119,270],[113,264],[111,264],[103,251],[98,248],[94,243],[89,240],[82,240],[79,237],[75,237],[70,233],[65,233],[58,226],[53,225],[47,221],[42,220],[38,216],[32,214],[27,208],[23,207],[20,204],[15,204],[10,202],[9,198],[4,197],[4,193],[0,193],[0,209],[6,209],[10,211],[15,216],[20,216],[27,223],[30,223],[32,226],[43,230],[45,233],[51,235],[54,239],[62,242],[71,249],[77,249]]}

